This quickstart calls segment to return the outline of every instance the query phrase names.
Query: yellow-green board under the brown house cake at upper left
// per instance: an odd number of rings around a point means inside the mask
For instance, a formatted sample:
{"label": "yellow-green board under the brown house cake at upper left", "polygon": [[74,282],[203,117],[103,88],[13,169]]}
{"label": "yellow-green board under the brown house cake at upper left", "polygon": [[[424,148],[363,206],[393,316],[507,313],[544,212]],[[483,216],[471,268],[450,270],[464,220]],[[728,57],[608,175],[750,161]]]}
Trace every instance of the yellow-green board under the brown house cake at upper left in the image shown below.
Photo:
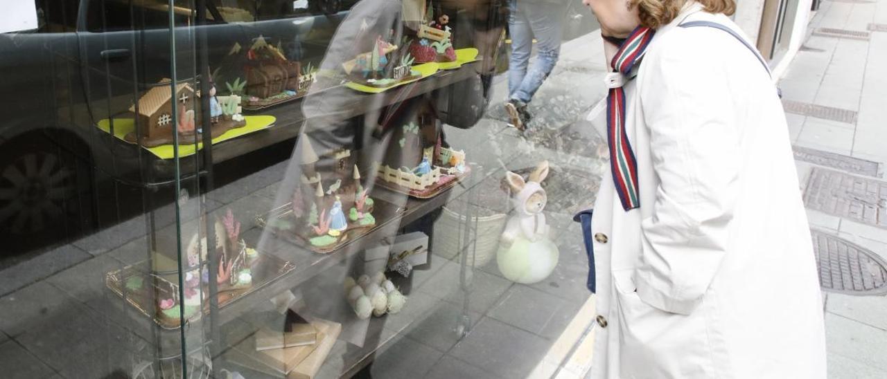
{"label": "yellow-green board under the brown house cake at upper left", "polygon": [[[219,135],[216,138],[213,138],[213,144],[220,143],[223,141],[228,141],[233,138],[237,138],[240,135],[247,135],[259,130],[271,128],[274,125],[274,122],[277,119],[274,116],[244,116],[244,119],[247,120],[247,125],[240,128],[233,128],[224,132],[223,135]],[[99,120],[98,128],[105,131],[105,133],[110,133],[111,130],[111,120]],[[136,123],[133,119],[114,119],[114,136],[122,141],[126,141],[123,139],[126,135],[130,134],[130,132],[135,131]],[[179,158],[184,158],[190,155],[194,155],[197,151],[203,148],[203,143],[197,143],[195,146],[193,143],[189,144],[180,144],[178,146],[178,156]],[[157,158],[160,159],[173,159],[173,155],[175,151],[173,150],[172,144],[164,144],[156,147],[146,147],[145,150],[151,151],[151,153]]]}

